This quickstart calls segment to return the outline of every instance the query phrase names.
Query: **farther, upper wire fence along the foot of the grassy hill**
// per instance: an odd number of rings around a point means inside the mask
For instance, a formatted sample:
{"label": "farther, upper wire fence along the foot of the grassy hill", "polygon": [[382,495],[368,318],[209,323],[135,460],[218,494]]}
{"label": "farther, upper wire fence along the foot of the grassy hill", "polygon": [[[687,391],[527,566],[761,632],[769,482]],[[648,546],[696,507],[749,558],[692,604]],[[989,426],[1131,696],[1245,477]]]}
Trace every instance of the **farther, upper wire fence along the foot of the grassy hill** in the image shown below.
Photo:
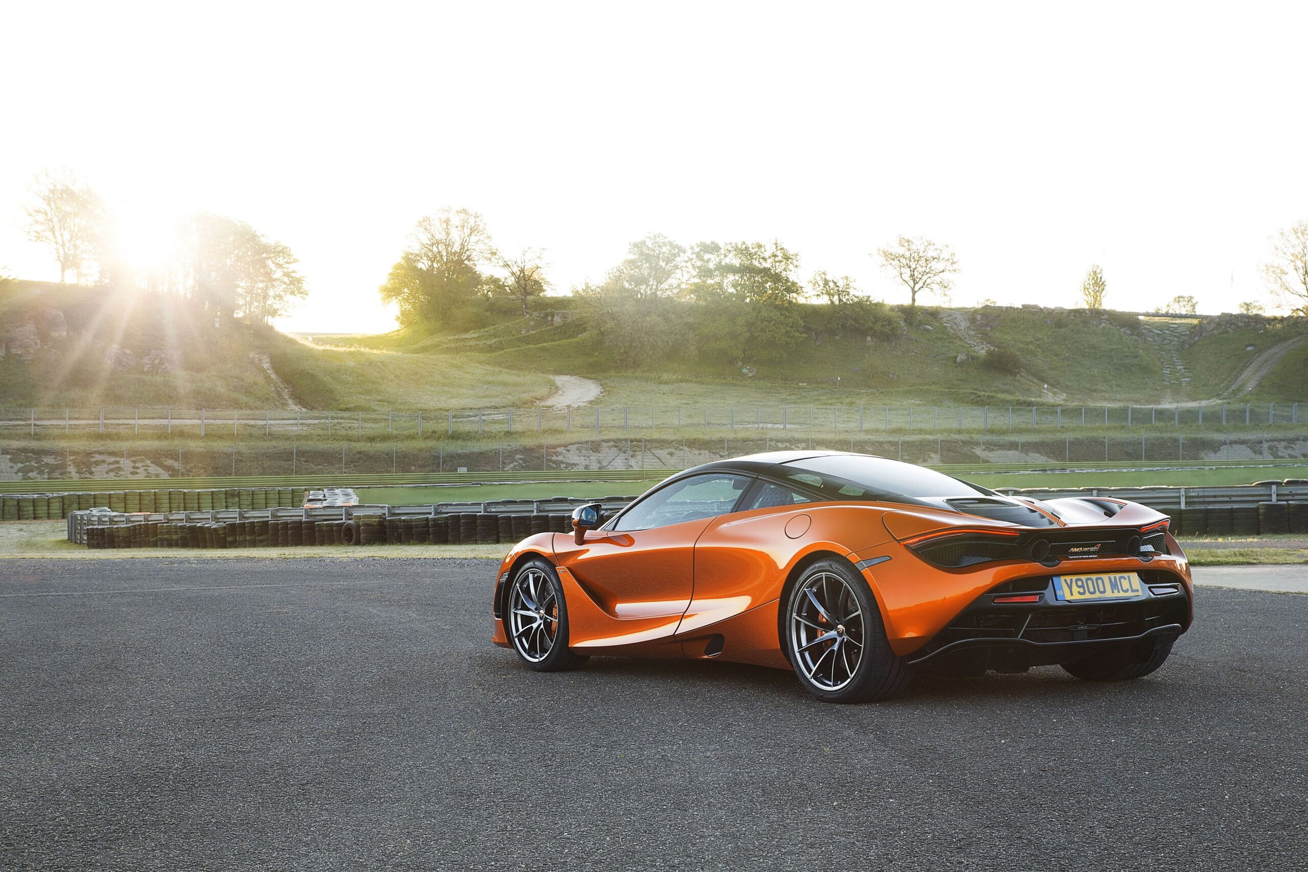
{"label": "farther, upper wire fence along the foot of the grassy hill", "polygon": [[412,439],[470,435],[1023,433],[1078,428],[1218,429],[1298,425],[1299,403],[1205,405],[718,405],[306,412],[285,409],[0,408],[0,434],[232,439]]}

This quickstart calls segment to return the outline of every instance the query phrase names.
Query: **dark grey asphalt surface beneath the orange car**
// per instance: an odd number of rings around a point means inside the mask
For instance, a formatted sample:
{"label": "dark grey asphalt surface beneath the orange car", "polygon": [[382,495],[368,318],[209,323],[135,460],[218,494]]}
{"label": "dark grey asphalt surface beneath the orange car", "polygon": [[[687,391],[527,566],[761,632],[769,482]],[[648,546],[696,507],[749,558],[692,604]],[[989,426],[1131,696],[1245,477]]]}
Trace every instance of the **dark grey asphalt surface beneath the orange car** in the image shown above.
{"label": "dark grey asphalt surface beneath the orange car", "polygon": [[489,643],[487,561],[0,563],[0,868],[1303,868],[1308,596],[1155,675],[793,676]]}

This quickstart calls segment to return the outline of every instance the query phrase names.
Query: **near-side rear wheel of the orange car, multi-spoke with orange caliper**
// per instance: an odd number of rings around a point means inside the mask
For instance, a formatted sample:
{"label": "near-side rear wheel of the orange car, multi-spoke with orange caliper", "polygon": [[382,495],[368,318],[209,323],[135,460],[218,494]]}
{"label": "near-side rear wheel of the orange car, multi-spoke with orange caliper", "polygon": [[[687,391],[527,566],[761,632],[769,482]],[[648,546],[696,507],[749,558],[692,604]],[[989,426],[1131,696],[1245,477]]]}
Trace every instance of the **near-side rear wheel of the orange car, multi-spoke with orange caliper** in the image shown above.
{"label": "near-side rear wheel of the orange car, multi-spoke with orange caliper", "polygon": [[844,561],[814,563],[786,597],[785,645],[799,684],[827,702],[891,697],[912,673],[886,639],[876,597]]}

